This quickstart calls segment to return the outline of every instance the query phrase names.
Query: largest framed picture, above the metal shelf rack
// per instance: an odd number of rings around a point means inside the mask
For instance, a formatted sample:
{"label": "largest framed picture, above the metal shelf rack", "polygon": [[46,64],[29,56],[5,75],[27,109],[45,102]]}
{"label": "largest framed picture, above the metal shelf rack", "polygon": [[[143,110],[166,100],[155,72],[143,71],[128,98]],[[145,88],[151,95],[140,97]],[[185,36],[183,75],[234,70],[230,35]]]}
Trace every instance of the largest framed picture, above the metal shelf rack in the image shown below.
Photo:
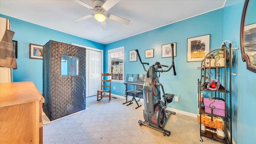
{"label": "largest framed picture, above the metal shelf rack", "polygon": [[210,52],[210,34],[188,38],[187,62],[202,61]]}

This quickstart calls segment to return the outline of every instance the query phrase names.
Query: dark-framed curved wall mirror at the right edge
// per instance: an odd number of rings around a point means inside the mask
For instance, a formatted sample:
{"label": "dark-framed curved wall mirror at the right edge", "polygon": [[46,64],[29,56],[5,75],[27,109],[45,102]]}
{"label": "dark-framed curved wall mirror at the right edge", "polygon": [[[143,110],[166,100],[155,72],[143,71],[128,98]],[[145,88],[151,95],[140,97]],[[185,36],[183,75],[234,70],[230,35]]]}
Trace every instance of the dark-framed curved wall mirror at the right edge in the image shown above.
{"label": "dark-framed curved wall mirror at the right edge", "polygon": [[246,68],[256,73],[256,0],[245,0],[241,19],[240,44]]}

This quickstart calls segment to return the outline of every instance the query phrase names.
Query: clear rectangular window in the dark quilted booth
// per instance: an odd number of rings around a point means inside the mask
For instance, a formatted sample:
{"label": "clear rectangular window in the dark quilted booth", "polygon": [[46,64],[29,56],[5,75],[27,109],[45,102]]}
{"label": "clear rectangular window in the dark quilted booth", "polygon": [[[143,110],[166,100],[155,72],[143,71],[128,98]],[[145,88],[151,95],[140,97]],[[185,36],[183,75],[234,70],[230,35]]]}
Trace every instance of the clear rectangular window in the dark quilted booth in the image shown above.
{"label": "clear rectangular window in the dark quilted booth", "polygon": [[77,76],[78,75],[78,57],[61,56],[61,76]]}

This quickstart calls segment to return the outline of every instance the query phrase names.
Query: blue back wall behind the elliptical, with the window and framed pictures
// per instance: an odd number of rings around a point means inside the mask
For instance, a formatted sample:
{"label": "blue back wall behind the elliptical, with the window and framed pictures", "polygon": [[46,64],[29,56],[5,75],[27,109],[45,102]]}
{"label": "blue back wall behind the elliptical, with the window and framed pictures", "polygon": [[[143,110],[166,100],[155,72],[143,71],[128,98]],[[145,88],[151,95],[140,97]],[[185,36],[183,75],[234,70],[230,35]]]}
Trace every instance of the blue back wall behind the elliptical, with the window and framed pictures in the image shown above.
{"label": "blue back wall behind the elliptical, with the window and framed pictures", "polygon": [[[124,46],[125,74],[146,74],[139,60],[129,62],[129,51],[138,49],[142,62],[149,62],[150,65],[158,61],[170,66],[172,59],[162,58],[162,45],[176,42],[174,63],[177,75],[174,76],[173,70],[170,70],[161,73],[159,80],[164,86],[165,93],[175,93],[180,96],[179,102],[172,102],[168,107],[196,114],[197,79],[200,78],[200,69],[197,67],[201,66],[201,62],[187,62],[187,38],[206,34],[210,34],[210,49],[220,48],[223,42],[223,9],[106,44],[105,51]],[[145,50],[152,48],[154,48],[154,58],[145,58]],[[146,69],[148,69],[147,66]],[[105,63],[105,72],[107,72],[107,63]],[[113,82],[112,86],[116,86],[116,90],[111,90],[112,93],[124,96],[124,84]]]}

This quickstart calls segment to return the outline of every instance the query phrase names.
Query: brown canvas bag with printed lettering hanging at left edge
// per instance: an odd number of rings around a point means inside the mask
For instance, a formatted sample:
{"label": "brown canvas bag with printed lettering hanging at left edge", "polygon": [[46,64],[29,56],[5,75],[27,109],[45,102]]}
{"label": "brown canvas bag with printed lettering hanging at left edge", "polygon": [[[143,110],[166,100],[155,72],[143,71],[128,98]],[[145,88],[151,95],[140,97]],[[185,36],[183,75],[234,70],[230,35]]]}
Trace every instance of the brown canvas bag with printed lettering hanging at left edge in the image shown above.
{"label": "brown canvas bag with printed lettering hanging at left edge", "polygon": [[12,43],[14,32],[12,30],[8,30],[8,24],[10,26],[9,19],[6,20],[6,30],[0,42],[0,66],[16,69],[16,57]]}

